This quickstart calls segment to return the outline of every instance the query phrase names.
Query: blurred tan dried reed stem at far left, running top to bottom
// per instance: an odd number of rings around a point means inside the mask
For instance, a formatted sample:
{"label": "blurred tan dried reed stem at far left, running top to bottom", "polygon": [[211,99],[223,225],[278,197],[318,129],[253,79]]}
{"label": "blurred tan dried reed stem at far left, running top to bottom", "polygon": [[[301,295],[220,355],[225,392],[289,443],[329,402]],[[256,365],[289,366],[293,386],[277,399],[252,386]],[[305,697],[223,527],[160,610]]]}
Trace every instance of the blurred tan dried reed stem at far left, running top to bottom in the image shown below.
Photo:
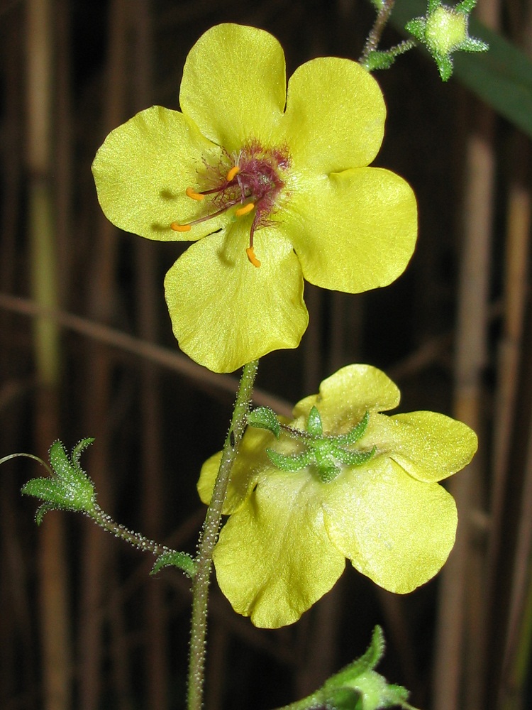
{"label": "blurred tan dried reed stem at far left, running top to bottom", "polygon": [[[31,245],[31,288],[35,301],[57,308],[52,165],[52,2],[26,4],[28,215]],[[57,437],[57,386],[60,345],[57,324],[35,320],[34,353],[39,382],[35,403],[38,451],[45,454]],[[43,705],[46,710],[70,707],[71,658],[67,602],[64,521],[51,516],[39,537],[40,623],[43,648]]]}

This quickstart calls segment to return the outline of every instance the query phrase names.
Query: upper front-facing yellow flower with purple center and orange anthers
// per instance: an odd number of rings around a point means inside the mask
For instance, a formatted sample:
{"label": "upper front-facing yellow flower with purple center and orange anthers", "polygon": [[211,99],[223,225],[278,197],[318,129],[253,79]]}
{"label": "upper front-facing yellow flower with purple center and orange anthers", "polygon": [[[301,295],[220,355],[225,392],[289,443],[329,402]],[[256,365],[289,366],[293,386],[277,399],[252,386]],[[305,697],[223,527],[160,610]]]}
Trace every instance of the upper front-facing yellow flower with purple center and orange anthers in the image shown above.
{"label": "upper front-facing yellow flower with purple center and orange anthers", "polygon": [[297,347],[304,278],[349,293],[391,283],[416,241],[416,200],[377,155],[386,109],[356,62],[318,58],[288,82],[265,31],[233,24],[199,38],[182,112],[141,111],[93,164],[106,216],[159,241],[195,240],[165,293],[192,359],[233,371]]}

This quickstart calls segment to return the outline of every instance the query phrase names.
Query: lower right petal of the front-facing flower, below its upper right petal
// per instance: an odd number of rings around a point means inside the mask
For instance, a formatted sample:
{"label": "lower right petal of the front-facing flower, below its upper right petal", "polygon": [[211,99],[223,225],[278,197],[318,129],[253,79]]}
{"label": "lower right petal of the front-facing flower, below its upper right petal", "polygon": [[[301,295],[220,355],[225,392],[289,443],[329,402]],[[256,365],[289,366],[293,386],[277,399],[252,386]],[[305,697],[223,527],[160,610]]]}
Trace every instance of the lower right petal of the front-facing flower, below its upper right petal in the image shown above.
{"label": "lower right petal of the front-facing flower, below its upper right petal", "polygon": [[348,293],[392,283],[417,236],[410,185],[382,168],[355,168],[305,180],[294,190],[285,231],[307,281]]}

